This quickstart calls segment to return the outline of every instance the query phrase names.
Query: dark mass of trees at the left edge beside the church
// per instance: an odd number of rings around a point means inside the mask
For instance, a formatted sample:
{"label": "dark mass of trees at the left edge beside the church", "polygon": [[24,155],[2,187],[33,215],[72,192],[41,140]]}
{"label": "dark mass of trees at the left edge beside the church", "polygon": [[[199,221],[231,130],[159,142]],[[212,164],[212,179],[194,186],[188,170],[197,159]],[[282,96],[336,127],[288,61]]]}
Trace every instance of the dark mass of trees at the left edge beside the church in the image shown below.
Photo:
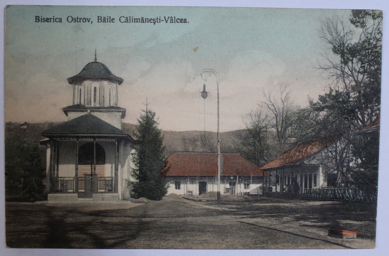
{"label": "dark mass of trees at the left edge beside the church", "polygon": [[41,200],[45,190],[45,151],[17,137],[5,137],[5,193]]}

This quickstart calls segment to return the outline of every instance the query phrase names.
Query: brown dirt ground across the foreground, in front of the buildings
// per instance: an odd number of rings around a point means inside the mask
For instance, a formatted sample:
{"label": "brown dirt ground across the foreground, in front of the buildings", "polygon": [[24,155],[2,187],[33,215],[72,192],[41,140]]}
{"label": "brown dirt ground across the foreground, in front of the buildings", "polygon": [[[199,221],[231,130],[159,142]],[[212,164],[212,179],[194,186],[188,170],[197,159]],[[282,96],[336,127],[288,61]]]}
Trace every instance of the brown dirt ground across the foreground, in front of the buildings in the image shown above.
{"label": "brown dirt ground across the foreground, in front of the buildings", "polygon": [[[223,198],[222,198],[223,200]],[[373,248],[376,204],[257,198],[196,202],[169,195],[143,204],[6,202],[12,248]],[[356,239],[328,236],[356,228]]]}

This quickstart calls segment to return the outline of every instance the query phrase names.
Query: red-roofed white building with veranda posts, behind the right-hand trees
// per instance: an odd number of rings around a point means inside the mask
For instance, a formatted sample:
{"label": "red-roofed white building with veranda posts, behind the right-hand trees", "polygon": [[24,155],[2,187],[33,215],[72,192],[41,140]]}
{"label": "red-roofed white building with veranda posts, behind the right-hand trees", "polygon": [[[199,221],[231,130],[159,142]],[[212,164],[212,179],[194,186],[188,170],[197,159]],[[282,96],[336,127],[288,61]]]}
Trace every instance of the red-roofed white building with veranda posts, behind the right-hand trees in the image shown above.
{"label": "red-roofed white building with veranda posts, behind the right-hand trees", "polygon": [[[270,173],[265,191],[304,193],[306,189],[348,186],[355,163],[353,141],[379,133],[379,120],[344,135],[318,138],[293,147],[262,166]],[[378,145],[377,145],[378,147]]]}

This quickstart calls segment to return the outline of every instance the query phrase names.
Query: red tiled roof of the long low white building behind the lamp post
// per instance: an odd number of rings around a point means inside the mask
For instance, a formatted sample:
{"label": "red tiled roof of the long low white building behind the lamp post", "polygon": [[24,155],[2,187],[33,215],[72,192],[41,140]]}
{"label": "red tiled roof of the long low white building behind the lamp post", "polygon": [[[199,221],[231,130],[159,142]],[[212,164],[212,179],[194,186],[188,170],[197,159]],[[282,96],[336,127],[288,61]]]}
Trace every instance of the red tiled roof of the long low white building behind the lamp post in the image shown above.
{"label": "red tiled roof of the long low white building behind the lamp post", "polygon": [[[173,153],[162,170],[165,176],[216,176],[217,153]],[[263,170],[240,154],[221,154],[222,176],[262,176]],[[265,171],[265,176],[269,174]]]}

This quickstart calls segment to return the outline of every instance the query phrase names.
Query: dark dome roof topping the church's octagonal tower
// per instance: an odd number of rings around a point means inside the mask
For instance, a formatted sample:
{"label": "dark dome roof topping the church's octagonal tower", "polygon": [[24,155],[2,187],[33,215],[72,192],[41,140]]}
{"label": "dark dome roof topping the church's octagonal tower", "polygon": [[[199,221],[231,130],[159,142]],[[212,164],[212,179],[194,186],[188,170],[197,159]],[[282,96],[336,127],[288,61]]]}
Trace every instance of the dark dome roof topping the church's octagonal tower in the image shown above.
{"label": "dark dome roof topping the church's octagonal tower", "polygon": [[119,85],[123,83],[123,79],[115,76],[112,72],[100,62],[90,62],[85,66],[78,75],[68,78],[69,84],[82,82],[88,79],[108,79],[118,82]]}

